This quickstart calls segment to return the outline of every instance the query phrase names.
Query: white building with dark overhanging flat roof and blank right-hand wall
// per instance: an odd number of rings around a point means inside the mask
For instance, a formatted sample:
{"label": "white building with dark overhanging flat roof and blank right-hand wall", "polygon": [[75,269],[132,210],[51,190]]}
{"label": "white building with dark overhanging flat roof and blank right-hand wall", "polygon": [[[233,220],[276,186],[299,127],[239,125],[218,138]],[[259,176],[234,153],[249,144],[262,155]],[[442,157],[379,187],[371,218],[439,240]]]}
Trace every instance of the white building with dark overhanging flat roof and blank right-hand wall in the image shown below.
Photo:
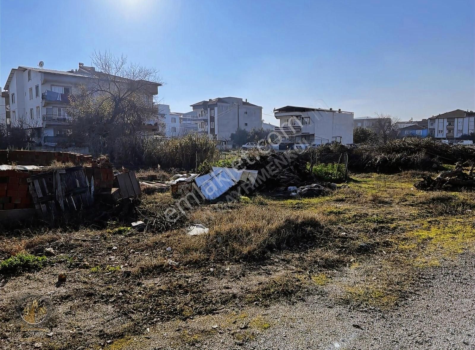
{"label": "white building with dark overhanging flat roof and blank right-hand wall", "polygon": [[321,108],[285,106],[274,110],[280,126],[275,132],[281,140],[293,143],[353,143],[353,112]]}

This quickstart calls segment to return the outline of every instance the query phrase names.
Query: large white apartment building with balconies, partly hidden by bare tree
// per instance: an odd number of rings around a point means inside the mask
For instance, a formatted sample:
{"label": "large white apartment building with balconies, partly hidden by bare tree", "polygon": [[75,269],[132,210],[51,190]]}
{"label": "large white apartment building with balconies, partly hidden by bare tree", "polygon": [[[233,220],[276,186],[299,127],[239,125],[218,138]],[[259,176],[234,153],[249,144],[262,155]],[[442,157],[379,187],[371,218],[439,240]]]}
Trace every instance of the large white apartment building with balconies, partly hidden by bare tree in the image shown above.
{"label": "large white apartment building with balconies, partly hidden by bare tree", "polygon": [[[34,130],[38,145],[56,146],[66,138],[70,94],[79,92],[81,85],[98,82],[101,72],[79,63],[78,69],[57,71],[19,66],[10,71],[5,84],[10,97],[12,127]],[[145,103],[153,104],[160,83],[147,83]]]}

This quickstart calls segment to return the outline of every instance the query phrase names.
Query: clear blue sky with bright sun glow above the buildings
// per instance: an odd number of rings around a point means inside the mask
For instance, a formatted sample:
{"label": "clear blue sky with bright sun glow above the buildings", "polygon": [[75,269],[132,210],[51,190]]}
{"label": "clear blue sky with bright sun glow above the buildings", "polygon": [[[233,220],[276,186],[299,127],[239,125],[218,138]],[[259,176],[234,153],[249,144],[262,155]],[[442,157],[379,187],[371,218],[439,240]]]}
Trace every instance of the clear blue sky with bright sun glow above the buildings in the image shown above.
{"label": "clear blue sky with bright sun glow above the buildings", "polygon": [[421,119],[475,109],[475,1],[0,2],[0,83],[96,50],[160,70],[172,111],[236,96],[263,106]]}

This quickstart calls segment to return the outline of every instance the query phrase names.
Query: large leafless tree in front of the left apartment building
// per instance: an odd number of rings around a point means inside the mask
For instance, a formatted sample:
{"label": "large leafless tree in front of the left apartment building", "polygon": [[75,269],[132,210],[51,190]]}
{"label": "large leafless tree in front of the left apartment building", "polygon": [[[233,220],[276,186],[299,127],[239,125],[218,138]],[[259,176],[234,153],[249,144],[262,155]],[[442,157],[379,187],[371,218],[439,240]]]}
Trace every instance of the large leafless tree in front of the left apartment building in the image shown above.
{"label": "large leafless tree in front of the left apartment building", "polygon": [[92,63],[79,67],[78,73],[90,77],[70,96],[71,140],[88,144],[95,156],[105,153],[117,162],[133,162],[141,158],[144,124],[160,123],[152,101],[161,85],[158,72],[107,51],[95,52]]}

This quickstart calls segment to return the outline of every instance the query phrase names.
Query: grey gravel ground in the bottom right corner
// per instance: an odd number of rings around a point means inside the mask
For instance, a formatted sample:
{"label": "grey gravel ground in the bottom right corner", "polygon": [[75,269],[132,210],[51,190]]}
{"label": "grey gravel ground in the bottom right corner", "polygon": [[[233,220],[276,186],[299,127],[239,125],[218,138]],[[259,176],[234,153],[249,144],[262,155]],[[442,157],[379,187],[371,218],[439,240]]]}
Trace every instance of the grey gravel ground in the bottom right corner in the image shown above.
{"label": "grey gravel ground in the bottom right corner", "polygon": [[[428,270],[398,309],[361,312],[314,296],[267,310],[276,325],[244,349],[475,349],[475,256]],[[229,344],[230,345],[230,344]]]}

